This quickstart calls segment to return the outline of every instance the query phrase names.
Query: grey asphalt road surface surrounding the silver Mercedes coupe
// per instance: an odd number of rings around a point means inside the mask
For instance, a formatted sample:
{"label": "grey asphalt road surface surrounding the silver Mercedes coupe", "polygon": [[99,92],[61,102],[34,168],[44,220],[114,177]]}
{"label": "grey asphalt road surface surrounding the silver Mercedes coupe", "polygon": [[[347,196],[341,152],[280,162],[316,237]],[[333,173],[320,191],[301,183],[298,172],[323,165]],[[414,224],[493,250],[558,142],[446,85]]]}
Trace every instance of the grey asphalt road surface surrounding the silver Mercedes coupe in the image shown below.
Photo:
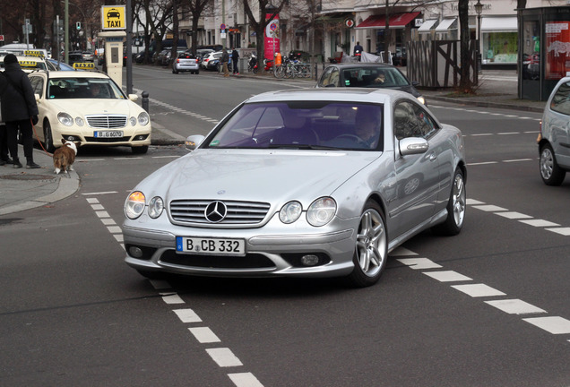
{"label": "grey asphalt road surface surrounding the silver Mercedes coupe", "polygon": [[[207,133],[251,94],[299,84],[156,73],[137,69],[135,87],[180,136]],[[145,280],[122,261],[123,202],[186,150],[82,151],[75,195],[3,217],[0,385],[570,385],[570,178],[540,180],[540,115],[430,107],[465,136],[465,226],[414,237],[371,288]]]}

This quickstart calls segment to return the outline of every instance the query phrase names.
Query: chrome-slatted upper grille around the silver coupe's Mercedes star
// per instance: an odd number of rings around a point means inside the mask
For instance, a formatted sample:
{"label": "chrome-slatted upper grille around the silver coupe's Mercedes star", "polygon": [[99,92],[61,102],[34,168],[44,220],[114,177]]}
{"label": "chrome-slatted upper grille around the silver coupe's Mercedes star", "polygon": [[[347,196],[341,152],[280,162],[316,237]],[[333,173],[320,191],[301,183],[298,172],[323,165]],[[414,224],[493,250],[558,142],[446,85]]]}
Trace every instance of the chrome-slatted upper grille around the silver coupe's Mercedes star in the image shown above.
{"label": "chrome-slatted upper grille around the silver coupe's Mercedes star", "polygon": [[[175,200],[170,202],[172,219],[186,223],[212,224],[206,219],[205,211],[212,200]],[[222,201],[228,212],[226,217],[216,224],[245,225],[258,224],[267,215],[270,204],[266,202]]]}

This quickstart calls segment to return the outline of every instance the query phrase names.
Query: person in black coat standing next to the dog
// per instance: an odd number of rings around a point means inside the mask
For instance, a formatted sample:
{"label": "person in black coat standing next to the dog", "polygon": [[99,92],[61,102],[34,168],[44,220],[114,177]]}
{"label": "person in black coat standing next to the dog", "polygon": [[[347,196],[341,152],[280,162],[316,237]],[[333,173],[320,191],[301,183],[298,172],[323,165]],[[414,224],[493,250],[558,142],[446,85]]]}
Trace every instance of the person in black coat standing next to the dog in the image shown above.
{"label": "person in black coat standing next to the dog", "polygon": [[4,56],[4,69],[8,84],[1,96],[2,117],[8,132],[8,149],[13,159],[13,168],[22,168],[18,158],[18,131],[22,133],[26,168],[40,168],[33,158],[32,124],[38,124],[39,111],[30,79],[13,54]]}

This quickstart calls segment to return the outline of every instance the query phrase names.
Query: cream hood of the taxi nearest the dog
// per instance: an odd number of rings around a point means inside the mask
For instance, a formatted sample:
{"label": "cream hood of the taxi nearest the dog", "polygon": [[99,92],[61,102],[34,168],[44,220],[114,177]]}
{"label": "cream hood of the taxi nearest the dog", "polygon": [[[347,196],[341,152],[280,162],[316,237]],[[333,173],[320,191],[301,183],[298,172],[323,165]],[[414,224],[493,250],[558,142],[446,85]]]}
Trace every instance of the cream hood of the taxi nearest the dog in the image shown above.
{"label": "cream hood of the taxi nearest the dog", "polygon": [[44,103],[72,116],[91,114],[137,116],[142,111],[142,107],[130,99],[47,99]]}

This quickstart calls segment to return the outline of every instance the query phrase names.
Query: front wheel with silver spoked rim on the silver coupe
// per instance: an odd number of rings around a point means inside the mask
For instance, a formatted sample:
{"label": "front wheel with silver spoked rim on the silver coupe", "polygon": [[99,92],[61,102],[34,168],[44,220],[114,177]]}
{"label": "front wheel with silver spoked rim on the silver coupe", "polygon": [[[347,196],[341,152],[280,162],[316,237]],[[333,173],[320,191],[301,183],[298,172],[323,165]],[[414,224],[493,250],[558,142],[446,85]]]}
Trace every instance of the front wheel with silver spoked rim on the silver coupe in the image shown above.
{"label": "front wheel with silver spoked rim on the silver coupe", "polygon": [[388,260],[388,233],[384,213],[374,201],[366,203],[360,216],[352,260],[354,270],[347,277],[351,286],[366,288],[380,280]]}

